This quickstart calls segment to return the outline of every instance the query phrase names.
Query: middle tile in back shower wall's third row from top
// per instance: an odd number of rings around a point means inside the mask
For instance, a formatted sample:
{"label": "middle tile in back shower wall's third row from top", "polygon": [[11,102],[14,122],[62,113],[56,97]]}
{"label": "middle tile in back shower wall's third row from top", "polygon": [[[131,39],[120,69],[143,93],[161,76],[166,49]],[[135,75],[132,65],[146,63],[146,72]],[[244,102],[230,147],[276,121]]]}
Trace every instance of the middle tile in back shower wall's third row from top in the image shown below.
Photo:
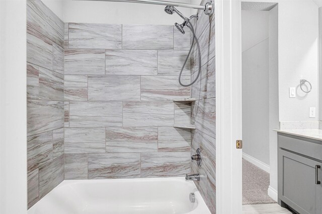
{"label": "middle tile in back shower wall's third row from top", "polygon": [[90,101],[140,100],[139,76],[89,76]]}

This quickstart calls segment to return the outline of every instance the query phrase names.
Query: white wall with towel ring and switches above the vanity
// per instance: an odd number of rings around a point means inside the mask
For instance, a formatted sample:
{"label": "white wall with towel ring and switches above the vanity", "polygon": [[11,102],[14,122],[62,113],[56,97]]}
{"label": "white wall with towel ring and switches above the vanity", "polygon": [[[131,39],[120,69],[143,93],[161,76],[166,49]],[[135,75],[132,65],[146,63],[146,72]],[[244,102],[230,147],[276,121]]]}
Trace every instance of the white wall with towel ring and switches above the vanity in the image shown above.
{"label": "white wall with towel ring and switches above the vanity", "polygon": [[[244,0],[278,3],[279,119],[318,120],[318,8],[311,0]],[[305,94],[299,80],[305,78],[313,89]],[[297,87],[297,97],[289,98],[289,87]],[[316,107],[316,118],[308,117]]]}

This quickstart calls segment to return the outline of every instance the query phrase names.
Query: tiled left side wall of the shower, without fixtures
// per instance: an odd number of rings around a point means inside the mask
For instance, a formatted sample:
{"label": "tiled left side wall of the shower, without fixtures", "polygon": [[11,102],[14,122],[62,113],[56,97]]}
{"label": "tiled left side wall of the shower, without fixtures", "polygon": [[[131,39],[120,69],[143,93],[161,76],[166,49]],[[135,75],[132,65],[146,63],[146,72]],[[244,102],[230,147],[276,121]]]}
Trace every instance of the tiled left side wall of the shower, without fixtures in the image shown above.
{"label": "tiled left side wall of the shower, without fixtures", "polygon": [[28,207],[64,179],[64,23],[27,1]]}

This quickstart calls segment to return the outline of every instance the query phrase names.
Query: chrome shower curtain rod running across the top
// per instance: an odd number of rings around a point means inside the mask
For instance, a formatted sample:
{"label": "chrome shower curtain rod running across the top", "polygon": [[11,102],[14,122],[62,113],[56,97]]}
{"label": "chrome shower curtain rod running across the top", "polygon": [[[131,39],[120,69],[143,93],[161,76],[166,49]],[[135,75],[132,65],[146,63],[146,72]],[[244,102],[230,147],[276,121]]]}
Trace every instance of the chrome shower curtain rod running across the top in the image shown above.
{"label": "chrome shower curtain rod running across the top", "polygon": [[142,3],[151,5],[169,5],[182,8],[193,8],[198,10],[206,10],[206,6],[192,5],[180,2],[153,1],[153,0],[73,0],[73,1],[102,1],[102,2],[127,2],[127,3]]}

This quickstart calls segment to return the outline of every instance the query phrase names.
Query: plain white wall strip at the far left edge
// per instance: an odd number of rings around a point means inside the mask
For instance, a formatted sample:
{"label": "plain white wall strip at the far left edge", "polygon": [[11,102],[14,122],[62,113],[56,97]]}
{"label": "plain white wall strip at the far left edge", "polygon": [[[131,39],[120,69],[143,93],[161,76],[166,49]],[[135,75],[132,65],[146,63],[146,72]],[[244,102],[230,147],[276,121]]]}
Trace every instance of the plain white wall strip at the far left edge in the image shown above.
{"label": "plain white wall strip at the far left edge", "polygon": [[0,1],[0,213],[27,212],[26,1]]}

